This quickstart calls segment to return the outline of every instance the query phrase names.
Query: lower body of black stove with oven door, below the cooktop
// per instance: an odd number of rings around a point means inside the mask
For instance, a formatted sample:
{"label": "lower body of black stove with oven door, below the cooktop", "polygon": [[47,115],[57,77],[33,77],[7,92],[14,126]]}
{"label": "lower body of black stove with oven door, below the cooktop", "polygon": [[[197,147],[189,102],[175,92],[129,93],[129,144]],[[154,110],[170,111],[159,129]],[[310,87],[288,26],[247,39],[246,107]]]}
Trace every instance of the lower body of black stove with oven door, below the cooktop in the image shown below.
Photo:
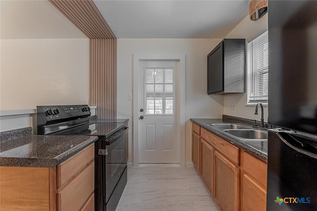
{"label": "lower body of black stove with oven door, below the cooktop", "polygon": [[[127,172],[127,131],[128,127],[123,127],[106,140],[100,139],[95,142],[96,211],[106,211],[108,205],[114,208],[108,210],[115,210],[117,205],[116,201],[120,199],[125,187]],[[117,185],[119,181],[120,184]],[[116,191],[114,191],[114,189],[116,189]],[[115,194],[113,194],[113,192]],[[116,197],[111,197],[111,195],[115,195]]]}

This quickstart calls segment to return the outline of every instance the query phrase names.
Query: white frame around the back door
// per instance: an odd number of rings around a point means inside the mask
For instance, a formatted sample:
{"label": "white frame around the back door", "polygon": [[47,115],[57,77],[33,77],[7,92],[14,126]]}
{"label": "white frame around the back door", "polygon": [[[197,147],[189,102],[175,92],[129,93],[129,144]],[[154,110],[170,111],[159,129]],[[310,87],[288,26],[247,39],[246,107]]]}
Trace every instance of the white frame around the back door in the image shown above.
{"label": "white frame around the back door", "polygon": [[[185,54],[176,55],[133,55],[133,166],[139,166],[139,62],[140,61],[179,61],[180,63],[180,119],[178,137],[179,165],[185,166]],[[178,121],[176,120],[176,123]]]}

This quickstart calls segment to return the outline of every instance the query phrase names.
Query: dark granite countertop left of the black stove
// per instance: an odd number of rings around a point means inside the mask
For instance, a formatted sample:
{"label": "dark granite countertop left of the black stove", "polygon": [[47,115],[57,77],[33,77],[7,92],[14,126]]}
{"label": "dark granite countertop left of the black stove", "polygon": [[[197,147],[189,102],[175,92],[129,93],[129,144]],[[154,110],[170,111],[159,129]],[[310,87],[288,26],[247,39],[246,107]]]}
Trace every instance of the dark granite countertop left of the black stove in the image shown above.
{"label": "dark granite countertop left of the black stove", "polygon": [[98,140],[97,136],[30,135],[1,143],[1,166],[53,167]]}

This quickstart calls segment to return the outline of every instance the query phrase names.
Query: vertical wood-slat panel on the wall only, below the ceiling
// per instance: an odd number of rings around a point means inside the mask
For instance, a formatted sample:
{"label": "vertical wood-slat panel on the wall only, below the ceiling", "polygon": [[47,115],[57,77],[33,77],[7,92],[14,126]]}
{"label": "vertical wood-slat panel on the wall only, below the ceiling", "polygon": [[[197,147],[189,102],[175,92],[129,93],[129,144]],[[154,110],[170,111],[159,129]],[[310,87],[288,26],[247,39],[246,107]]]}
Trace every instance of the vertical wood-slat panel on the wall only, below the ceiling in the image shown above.
{"label": "vertical wood-slat panel on the wall only, below the ceiling", "polygon": [[89,105],[98,118],[116,118],[116,39],[90,40]]}

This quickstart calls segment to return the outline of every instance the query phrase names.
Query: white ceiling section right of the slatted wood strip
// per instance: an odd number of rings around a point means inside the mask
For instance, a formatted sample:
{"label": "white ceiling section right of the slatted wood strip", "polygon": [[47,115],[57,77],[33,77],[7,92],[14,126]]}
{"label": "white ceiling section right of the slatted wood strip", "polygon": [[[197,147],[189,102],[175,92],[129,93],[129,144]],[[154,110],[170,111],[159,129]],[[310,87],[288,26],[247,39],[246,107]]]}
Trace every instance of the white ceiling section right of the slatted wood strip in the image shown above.
{"label": "white ceiling section right of the slatted wood strip", "polygon": [[250,0],[94,0],[116,38],[224,38]]}

